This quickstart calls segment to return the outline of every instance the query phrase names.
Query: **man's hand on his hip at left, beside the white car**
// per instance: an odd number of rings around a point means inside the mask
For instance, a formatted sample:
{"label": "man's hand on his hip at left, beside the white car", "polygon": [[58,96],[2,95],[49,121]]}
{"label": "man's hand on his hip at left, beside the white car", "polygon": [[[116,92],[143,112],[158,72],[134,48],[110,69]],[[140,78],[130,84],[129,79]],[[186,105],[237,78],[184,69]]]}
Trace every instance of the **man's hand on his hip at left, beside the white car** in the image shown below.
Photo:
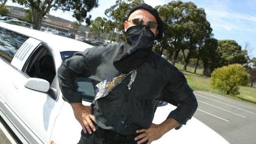
{"label": "man's hand on his hip at left, beside the white car", "polygon": [[74,115],[78,122],[81,124],[83,128],[83,132],[89,132],[92,134],[92,130],[95,132],[95,126],[92,121],[95,122],[95,118],[92,115],[92,109],[90,106],[84,106],[81,102],[71,103]]}

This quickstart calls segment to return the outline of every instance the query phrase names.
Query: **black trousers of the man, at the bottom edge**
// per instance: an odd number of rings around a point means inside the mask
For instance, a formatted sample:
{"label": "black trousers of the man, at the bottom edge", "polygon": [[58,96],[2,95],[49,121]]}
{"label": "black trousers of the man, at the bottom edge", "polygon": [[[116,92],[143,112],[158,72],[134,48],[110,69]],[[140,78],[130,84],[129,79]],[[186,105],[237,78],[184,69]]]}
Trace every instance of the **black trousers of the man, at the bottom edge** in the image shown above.
{"label": "black trousers of the man, at the bottom edge", "polygon": [[[137,141],[134,140],[140,134],[135,135],[119,135],[115,132],[108,130],[103,130],[97,125],[95,125],[96,131],[92,134],[88,132],[85,134],[83,130],[81,131],[81,138],[78,144],[137,144]],[[147,144],[148,141],[142,143]]]}

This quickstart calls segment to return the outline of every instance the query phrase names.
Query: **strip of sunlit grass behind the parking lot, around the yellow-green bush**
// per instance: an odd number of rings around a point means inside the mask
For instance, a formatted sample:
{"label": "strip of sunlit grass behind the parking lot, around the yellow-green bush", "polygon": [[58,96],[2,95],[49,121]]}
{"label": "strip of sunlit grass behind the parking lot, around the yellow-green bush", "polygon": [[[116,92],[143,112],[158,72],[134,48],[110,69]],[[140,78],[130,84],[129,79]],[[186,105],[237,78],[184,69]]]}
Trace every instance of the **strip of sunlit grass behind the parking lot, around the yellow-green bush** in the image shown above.
{"label": "strip of sunlit grass behind the parking lot, around the yellow-green bush", "polygon": [[244,102],[247,104],[251,104],[256,106],[256,87],[250,87],[250,86],[241,86],[239,89],[240,94],[238,95],[227,95],[225,92],[220,92],[219,90],[213,89],[210,85],[211,78],[195,74],[187,71],[182,71],[187,78],[187,83],[190,85],[190,87],[193,90],[200,90],[200,91],[206,91],[206,92],[213,92],[216,94],[223,95],[225,97],[229,97],[232,99],[236,99],[240,102]]}

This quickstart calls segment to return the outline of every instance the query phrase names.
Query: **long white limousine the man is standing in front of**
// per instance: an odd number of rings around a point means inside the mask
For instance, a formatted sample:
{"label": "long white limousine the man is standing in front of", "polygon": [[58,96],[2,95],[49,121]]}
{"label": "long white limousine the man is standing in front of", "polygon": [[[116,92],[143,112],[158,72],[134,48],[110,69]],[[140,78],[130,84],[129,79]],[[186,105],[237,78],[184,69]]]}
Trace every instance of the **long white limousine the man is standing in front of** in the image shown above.
{"label": "long white limousine the man is standing in front of", "polygon": [[[76,144],[81,125],[62,99],[56,77],[62,59],[92,47],[84,42],[0,22],[0,116],[23,144]],[[90,80],[78,78],[83,104],[90,105]],[[175,106],[162,102],[154,117],[161,123]],[[152,144],[229,144],[192,118]]]}

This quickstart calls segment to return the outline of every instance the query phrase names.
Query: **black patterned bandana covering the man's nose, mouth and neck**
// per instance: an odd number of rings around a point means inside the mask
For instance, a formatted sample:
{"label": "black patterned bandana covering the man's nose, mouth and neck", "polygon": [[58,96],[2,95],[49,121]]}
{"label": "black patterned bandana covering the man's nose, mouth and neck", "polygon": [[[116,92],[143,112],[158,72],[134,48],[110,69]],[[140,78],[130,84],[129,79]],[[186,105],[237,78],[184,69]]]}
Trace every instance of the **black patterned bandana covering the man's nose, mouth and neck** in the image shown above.
{"label": "black patterned bandana covering the man's nose, mouth and neck", "polygon": [[148,26],[131,26],[127,29],[127,42],[116,55],[113,64],[120,73],[128,73],[142,65],[152,51],[154,33]]}

